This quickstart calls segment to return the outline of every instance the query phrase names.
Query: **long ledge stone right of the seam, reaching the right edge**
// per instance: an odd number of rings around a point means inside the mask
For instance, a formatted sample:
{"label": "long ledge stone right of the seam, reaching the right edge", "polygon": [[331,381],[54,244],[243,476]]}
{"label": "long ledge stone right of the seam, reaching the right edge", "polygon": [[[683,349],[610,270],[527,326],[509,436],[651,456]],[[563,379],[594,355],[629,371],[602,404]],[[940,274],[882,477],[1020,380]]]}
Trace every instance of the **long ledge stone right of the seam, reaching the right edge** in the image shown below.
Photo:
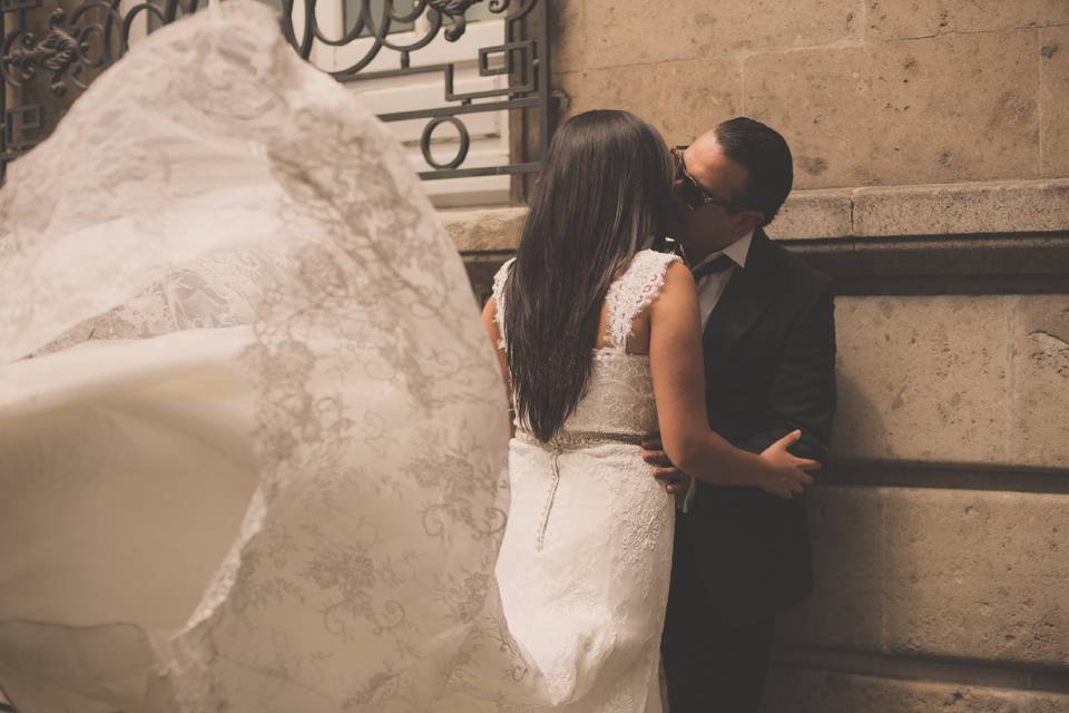
{"label": "long ledge stone right of the seam, reaching the right edge", "polygon": [[853,215],[857,236],[1066,231],[1069,180],[860,188]]}

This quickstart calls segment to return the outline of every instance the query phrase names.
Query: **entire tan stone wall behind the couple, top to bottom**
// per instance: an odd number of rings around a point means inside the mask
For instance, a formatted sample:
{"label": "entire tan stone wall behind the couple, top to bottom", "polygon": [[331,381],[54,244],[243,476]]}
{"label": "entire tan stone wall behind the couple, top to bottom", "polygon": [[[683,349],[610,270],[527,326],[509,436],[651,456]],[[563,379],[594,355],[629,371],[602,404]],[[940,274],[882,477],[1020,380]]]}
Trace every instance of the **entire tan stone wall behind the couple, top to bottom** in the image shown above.
{"label": "entire tan stone wall behind the couple, top to bottom", "polygon": [[[769,234],[835,277],[816,588],[765,713],[1069,711],[1069,1],[555,8],[562,116],[767,121]],[[445,214],[480,294],[523,216]]]}

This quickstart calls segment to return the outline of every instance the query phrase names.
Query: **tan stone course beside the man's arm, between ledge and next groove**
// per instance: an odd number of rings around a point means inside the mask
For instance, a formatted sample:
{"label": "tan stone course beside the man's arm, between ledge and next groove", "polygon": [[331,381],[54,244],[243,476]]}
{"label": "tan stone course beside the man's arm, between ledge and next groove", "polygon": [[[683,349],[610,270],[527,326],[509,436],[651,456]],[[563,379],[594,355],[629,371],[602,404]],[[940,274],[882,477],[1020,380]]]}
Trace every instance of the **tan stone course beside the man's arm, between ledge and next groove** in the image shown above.
{"label": "tan stone course beside the man's arm, between ledge and next groove", "polygon": [[1069,296],[841,296],[840,458],[1069,467]]}

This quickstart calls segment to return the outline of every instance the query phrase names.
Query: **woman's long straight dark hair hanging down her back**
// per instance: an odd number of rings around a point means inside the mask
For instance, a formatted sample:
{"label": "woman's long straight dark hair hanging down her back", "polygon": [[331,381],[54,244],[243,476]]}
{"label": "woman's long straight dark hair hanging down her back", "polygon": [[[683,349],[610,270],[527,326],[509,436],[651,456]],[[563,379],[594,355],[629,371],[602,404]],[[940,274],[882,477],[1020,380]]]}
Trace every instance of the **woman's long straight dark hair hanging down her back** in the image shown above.
{"label": "woman's long straight dark hair hanging down her back", "polygon": [[543,442],[586,389],[609,285],[663,235],[671,175],[660,134],[627,111],[579,114],[553,137],[504,291],[517,413]]}

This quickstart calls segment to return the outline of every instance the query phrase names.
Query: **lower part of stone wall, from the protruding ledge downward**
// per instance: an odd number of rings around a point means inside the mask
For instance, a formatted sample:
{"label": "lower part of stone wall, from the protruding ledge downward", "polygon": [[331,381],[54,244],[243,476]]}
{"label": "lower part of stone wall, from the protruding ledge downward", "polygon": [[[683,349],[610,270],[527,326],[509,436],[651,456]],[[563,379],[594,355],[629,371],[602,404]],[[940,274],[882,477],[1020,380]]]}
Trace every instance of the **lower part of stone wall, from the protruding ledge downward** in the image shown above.
{"label": "lower part of stone wall, from the protruding ledge downward", "polygon": [[[443,214],[480,295],[524,215]],[[773,224],[840,285],[840,412],[766,713],[1069,711],[1067,226],[1065,179],[800,192]]]}

